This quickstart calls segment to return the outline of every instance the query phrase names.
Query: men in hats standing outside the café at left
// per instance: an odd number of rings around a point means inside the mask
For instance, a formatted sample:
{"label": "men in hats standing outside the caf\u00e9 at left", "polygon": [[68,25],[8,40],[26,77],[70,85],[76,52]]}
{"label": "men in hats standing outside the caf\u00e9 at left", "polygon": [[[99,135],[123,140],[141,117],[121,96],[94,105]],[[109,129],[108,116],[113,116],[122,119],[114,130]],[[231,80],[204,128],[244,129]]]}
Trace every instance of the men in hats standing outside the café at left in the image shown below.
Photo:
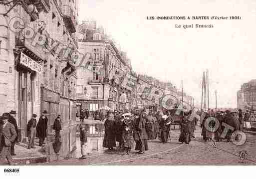
{"label": "men in hats standing outside the caf\u00e9 at left", "polygon": [[[44,140],[47,137],[48,119],[47,111],[44,110],[38,122],[36,114],[32,114],[32,118],[27,123],[27,149],[35,148],[35,138],[39,138],[39,146],[43,146]],[[53,130],[55,130],[56,139],[60,139],[61,120],[60,115],[54,121]],[[12,165],[12,157],[15,156],[14,146],[18,141],[18,127],[16,121],[16,111],[11,110],[9,113],[3,113],[0,116],[0,159],[3,162],[7,160],[9,165]]]}

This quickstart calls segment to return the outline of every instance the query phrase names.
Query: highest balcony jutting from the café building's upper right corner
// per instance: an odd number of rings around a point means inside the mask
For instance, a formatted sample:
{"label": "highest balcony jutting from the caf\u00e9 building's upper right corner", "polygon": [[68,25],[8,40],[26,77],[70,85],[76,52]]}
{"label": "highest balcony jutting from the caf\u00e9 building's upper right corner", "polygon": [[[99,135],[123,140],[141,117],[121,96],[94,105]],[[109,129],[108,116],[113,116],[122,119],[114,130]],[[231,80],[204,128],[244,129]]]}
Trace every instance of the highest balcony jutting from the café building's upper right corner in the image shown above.
{"label": "highest balcony jutting from the caf\u00e9 building's upper right corner", "polygon": [[76,20],[72,8],[69,5],[62,5],[61,11],[63,14],[63,21],[66,24],[66,27],[71,33],[76,32]]}

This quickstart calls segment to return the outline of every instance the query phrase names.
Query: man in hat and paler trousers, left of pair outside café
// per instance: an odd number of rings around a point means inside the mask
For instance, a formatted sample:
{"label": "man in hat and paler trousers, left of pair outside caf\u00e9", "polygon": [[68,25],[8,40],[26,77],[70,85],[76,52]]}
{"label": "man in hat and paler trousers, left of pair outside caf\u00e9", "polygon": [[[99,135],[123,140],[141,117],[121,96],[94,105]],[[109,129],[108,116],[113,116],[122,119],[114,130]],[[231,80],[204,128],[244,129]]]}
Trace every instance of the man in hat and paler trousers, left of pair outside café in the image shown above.
{"label": "man in hat and paler trousers, left of pair outside caf\u00e9", "polygon": [[34,147],[34,138],[36,135],[36,114],[32,115],[32,118],[27,123],[27,136],[28,136],[28,148],[35,148]]}

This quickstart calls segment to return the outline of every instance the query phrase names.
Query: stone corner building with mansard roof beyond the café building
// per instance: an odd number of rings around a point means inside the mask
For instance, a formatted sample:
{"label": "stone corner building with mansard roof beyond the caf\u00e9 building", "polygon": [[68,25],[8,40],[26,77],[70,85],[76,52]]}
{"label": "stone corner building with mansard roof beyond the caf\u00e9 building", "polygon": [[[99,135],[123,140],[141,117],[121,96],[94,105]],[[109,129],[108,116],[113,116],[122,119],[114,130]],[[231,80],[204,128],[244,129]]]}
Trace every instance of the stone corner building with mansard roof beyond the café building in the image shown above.
{"label": "stone corner building with mansard roof beyond the caf\u00e9 building", "polygon": [[96,111],[104,105],[129,110],[131,89],[122,85],[131,73],[126,53],[117,49],[103,28],[96,28],[95,21],[84,21],[79,26],[78,41],[79,52],[85,56],[77,68],[78,111],[81,108]]}

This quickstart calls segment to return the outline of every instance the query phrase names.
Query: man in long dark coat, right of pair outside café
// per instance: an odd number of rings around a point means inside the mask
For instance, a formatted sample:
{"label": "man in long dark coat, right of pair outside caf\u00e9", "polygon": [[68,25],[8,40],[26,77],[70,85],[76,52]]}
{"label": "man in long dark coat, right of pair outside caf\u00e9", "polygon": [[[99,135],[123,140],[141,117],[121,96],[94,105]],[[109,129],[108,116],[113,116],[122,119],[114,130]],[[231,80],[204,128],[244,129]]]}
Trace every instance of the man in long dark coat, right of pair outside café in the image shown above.
{"label": "man in long dark coat, right of pair outside caf\u00e9", "polygon": [[36,125],[36,137],[39,138],[39,146],[43,146],[44,138],[47,137],[47,126],[48,126],[48,119],[46,117],[47,111],[43,111],[43,115],[39,118],[39,121]]}

